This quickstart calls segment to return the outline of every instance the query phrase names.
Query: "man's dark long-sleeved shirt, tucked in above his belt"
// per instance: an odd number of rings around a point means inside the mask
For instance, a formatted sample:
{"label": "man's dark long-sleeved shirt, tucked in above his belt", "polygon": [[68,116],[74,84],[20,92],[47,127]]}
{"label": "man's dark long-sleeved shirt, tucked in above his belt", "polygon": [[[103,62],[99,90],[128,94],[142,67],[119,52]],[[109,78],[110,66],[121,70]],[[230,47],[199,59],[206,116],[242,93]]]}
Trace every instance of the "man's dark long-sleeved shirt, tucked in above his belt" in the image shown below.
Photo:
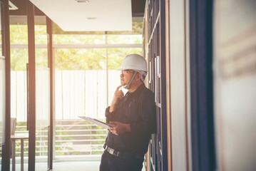
{"label": "man's dark long-sleeved shirt, tucked in above his belt", "polygon": [[133,93],[126,95],[118,103],[115,111],[106,109],[106,120],[130,124],[130,133],[114,135],[108,131],[106,145],[122,152],[135,152],[144,155],[148,150],[150,135],[156,132],[156,110],[154,94],[139,86]]}

